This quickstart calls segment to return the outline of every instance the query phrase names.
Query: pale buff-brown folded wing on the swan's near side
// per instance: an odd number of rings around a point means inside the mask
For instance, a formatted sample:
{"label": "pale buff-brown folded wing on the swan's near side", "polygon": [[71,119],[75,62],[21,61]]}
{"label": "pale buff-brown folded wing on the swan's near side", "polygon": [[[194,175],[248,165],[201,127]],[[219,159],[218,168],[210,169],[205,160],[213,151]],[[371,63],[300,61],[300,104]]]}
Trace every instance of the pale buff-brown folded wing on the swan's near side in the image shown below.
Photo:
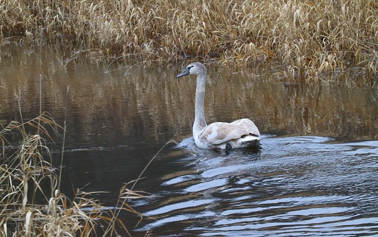
{"label": "pale buff-brown folded wing on the swan's near side", "polygon": [[211,123],[203,128],[198,135],[200,141],[207,141],[209,144],[218,145],[233,139],[249,135],[248,127],[234,123]]}

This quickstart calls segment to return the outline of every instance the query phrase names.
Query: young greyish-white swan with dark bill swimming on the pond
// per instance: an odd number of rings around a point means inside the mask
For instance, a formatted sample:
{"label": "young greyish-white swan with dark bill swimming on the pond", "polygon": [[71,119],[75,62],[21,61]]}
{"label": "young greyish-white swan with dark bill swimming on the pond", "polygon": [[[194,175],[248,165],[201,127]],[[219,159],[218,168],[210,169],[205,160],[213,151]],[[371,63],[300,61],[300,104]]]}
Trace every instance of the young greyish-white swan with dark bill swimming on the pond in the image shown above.
{"label": "young greyish-white swan with dark bill swimming on the pond", "polygon": [[259,145],[260,133],[256,125],[249,119],[243,118],[232,123],[215,122],[207,125],[204,113],[206,68],[202,63],[191,63],[176,78],[188,74],[197,75],[193,124],[193,138],[196,146],[201,149],[230,150]]}

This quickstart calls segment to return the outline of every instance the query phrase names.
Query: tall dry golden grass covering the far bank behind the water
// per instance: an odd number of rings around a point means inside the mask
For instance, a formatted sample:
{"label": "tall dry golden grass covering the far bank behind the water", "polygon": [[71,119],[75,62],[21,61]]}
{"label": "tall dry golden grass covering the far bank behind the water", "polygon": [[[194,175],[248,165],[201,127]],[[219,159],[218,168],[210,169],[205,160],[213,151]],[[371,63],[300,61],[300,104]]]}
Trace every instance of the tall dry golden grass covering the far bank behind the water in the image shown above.
{"label": "tall dry golden grass covering the far bank behind the water", "polygon": [[317,80],[352,67],[378,72],[377,16],[375,0],[4,0],[0,32],[139,60],[274,59],[286,80]]}

